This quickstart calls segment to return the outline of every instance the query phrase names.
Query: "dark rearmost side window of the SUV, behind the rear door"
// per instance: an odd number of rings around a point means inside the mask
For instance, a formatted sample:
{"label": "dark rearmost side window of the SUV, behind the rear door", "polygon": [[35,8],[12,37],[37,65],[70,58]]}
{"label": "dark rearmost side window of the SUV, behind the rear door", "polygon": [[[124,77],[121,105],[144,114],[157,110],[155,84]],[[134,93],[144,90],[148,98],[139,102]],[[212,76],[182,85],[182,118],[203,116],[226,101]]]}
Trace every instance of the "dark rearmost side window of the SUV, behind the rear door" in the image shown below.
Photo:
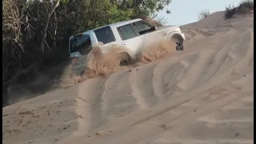
{"label": "dark rearmost side window of the SUV, behind the rear door", "polygon": [[94,30],[94,33],[96,34],[98,42],[103,42],[103,44],[115,41],[114,34],[110,26],[105,26],[98,30]]}

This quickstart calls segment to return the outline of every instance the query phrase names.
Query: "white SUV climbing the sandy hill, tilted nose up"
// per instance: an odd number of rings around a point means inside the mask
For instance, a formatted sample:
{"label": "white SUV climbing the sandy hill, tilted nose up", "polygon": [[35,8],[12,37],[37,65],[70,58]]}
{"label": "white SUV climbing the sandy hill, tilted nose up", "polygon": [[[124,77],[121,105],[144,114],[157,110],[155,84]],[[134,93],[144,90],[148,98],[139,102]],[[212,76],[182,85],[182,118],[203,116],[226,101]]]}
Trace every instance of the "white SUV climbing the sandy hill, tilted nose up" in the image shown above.
{"label": "white SUV climbing the sandy hill, tilted nose up", "polygon": [[[142,46],[150,45],[159,40],[172,39],[176,42],[177,50],[183,50],[185,35],[179,26],[155,27],[140,18],[117,22],[94,30],[83,32],[70,37],[70,58],[85,60],[86,54],[99,42],[102,53],[109,50],[113,44],[125,46],[131,58],[134,58]],[[80,61],[84,62],[84,61]],[[80,63],[78,62],[78,63]]]}

